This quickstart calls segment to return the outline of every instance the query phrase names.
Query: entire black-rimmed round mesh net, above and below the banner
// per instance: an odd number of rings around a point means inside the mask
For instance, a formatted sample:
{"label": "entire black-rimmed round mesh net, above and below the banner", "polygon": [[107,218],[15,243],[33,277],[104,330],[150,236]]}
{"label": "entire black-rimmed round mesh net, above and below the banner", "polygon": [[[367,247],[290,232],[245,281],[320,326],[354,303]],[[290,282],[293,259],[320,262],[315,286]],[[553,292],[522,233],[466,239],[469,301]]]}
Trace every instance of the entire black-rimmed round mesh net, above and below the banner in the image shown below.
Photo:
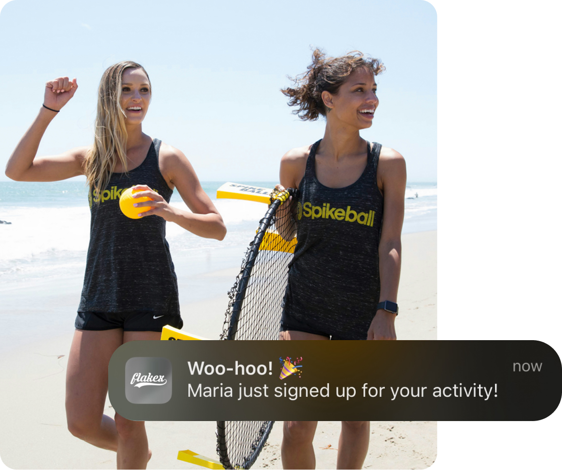
{"label": "entire black-rimmed round mesh net, above and below the banner", "polygon": [[[293,196],[292,200],[289,196]],[[229,292],[221,339],[279,339],[289,262],[297,244],[296,191],[274,192]],[[226,470],[248,469],[274,421],[217,421],[217,453]]]}

